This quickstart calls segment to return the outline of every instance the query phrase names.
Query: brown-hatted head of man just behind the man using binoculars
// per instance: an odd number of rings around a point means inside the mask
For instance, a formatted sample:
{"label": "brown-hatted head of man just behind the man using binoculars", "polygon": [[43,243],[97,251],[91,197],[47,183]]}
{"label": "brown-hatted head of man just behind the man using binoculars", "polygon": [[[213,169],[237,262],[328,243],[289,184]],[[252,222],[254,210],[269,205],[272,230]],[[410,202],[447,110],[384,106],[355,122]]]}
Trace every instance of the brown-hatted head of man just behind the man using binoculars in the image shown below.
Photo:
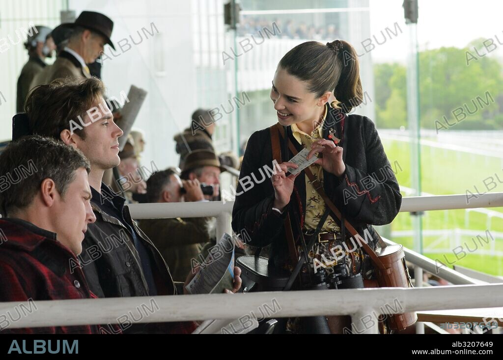
{"label": "brown-hatted head of man just behind the man using binoculars", "polygon": [[206,195],[208,200],[218,200],[220,194],[220,173],[226,171],[221,166],[217,155],[209,150],[194,150],[185,158],[181,178],[183,180],[199,180],[200,183],[213,185],[212,196]]}

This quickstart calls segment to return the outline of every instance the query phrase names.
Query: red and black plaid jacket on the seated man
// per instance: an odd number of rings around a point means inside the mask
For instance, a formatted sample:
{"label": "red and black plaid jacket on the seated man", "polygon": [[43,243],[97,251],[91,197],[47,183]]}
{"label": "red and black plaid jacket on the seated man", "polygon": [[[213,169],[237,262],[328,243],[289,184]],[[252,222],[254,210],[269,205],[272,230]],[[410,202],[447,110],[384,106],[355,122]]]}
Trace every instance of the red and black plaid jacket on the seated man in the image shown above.
{"label": "red and black plaid jacket on the seated man", "polygon": [[[9,328],[20,316],[37,311],[39,300],[96,298],[79,267],[77,258],[56,241],[56,234],[21,219],[0,219],[0,302],[26,302],[14,311],[0,313],[0,333],[71,334],[99,333],[100,325]],[[27,310],[28,309],[28,310]],[[120,332],[117,325],[112,325]]]}

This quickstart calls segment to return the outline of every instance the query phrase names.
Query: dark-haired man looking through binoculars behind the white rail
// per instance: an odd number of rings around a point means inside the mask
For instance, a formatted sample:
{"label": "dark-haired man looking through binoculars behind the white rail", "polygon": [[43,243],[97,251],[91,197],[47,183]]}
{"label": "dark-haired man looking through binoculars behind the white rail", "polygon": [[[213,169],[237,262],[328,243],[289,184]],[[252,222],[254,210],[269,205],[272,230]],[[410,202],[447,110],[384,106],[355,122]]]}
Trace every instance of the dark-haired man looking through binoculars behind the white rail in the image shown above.
{"label": "dark-haired man looking through binoculars behind the white rail", "polygon": [[[182,188],[185,194],[182,195]],[[147,202],[205,201],[201,184],[184,180],[173,170],[153,173],[147,180]],[[140,228],[159,249],[175,281],[184,281],[192,270],[191,259],[197,259],[202,246],[209,242],[206,223],[209,217],[142,219]]]}

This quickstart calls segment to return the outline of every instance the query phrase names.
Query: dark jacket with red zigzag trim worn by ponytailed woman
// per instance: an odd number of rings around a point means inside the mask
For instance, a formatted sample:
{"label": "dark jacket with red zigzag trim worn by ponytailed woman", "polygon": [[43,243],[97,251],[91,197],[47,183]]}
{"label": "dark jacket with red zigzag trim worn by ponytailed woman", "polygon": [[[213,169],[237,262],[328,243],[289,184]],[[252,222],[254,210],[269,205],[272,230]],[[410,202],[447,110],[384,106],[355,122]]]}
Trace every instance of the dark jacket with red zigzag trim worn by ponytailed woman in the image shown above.
{"label": "dark jacket with red zigzag trim worn by ponytailed woman", "polygon": [[[375,248],[377,236],[371,225],[390,223],[397,215],[402,198],[398,182],[384,153],[374,123],[369,118],[356,114],[345,115],[339,109],[329,107],[323,124],[324,139],[328,139],[330,128],[336,130],[342,139],[339,145],[343,148],[346,171],[338,178],[323,170],[323,188],[330,200],[362,236],[363,230],[368,229]],[[297,151],[300,151],[302,146],[293,137],[290,127],[288,132],[290,141],[296,146]],[[344,135],[341,136],[342,134]],[[282,138],[280,146],[283,154]],[[289,157],[292,157],[291,152]],[[265,247],[271,244],[270,263],[283,268],[289,262],[283,221],[287,213],[290,213],[294,238],[298,241],[299,233],[294,222],[299,222],[301,219],[295,215],[294,208],[297,207],[299,210],[296,213],[299,213],[301,207],[302,213],[305,214],[306,175],[302,172],[295,179],[290,203],[280,215],[279,212],[272,210],[274,189],[270,172],[264,181],[257,184],[263,179],[262,173],[266,174],[264,167],[267,165],[272,168],[272,161],[269,128],[255,132],[248,140],[239,175],[240,179],[249,175],[255,186],[240,194],[243,187],[240,182],[238,183],[236,194],[240,195],[236,195],[232,210],[232,229],[236,233],[246,230],[250,245]],[[259,169],[262,169],[262,173]],[[254,176],[250,175],[252,173]],[[244,180],[243,183],[246,184]],[[249,188],[250,185],[245,187]],[[337,221],[337,217],[332,216]]]}

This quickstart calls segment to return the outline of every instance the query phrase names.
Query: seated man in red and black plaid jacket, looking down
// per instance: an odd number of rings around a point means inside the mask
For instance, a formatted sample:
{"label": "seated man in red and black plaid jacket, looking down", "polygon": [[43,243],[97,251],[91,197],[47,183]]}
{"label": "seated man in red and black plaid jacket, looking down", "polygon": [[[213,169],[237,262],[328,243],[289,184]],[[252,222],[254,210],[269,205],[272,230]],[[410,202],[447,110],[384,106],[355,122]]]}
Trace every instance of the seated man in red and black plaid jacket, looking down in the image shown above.
{"label": "seated man in red and black plaid jacket, looking down", "polygon": [[[99,326],[11,328],[38,300],[96,298],[76,256],[91,209],[90,166],[78,150],[24,137],[0,155],[0,302],[31,303],[0,315],[1,333],[98,333]],[[24,305],[23,305],[24,306]]]}

